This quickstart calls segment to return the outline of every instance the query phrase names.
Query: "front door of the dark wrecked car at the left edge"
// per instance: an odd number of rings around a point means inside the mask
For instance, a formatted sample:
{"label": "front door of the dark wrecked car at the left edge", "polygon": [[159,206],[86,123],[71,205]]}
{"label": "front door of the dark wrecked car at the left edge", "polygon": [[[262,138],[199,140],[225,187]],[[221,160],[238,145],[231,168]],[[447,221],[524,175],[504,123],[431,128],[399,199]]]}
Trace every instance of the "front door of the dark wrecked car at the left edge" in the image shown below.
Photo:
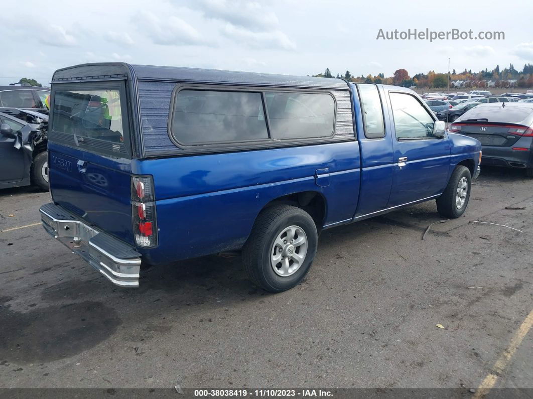
{"label": "front door of the dark wrecked car at the left edge", "polygon": [[[0,116],[0,124],[7,124],[18,132],[24,125],[3,116]],[[22,149],[14,148],[15,137],[0,134],[0,184],[19,182],[25,173],[26,159]]]}

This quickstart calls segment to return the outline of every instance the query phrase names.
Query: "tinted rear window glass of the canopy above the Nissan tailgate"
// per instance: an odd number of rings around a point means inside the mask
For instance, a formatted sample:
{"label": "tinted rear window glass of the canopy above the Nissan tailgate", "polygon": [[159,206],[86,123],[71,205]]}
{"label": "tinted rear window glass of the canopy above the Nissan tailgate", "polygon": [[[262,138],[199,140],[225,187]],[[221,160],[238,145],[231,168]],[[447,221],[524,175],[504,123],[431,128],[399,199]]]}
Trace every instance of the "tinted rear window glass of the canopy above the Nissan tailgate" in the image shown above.
{"label": "tinted rear window glass of the canopy above the Nissan tailgate", "polygon": [[75,135],[82,143],[86,138],[123,146],[124,127],[118,90],[56,91],[53,108],[54,132]]}

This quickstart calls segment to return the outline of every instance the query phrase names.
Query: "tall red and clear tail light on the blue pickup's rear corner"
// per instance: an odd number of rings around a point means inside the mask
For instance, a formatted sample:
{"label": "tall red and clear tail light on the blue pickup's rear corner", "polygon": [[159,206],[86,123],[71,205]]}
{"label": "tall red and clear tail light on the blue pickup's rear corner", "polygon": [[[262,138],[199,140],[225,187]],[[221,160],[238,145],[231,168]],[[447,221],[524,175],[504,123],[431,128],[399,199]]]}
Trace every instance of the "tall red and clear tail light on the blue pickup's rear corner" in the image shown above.
{"label": "tall red and clear tail light on the blue pickup's rear corner", "polygon": [[155,247],[157,218],[152,176],[132,176],[131,198],[135,243],[139,247]]}

